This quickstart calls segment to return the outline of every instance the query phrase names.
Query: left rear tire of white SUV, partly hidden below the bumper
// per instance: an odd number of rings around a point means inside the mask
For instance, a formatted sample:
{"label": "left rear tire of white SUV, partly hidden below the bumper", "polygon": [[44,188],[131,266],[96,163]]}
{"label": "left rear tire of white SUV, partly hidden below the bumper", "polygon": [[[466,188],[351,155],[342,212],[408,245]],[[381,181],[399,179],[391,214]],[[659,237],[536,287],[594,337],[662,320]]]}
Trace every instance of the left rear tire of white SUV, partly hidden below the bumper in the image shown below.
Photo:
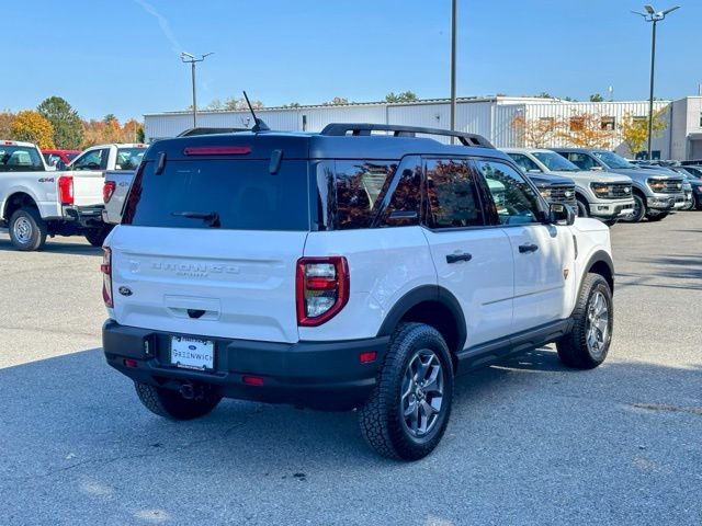
{"label": "left rear tire of white SUV, partly hidden below the bumper", "polygon": [[136,393],[146,409],[170,420],[193,420],[204,416],[217,407],[222,397],[212,389],[203,389],[201,396],[186,399],[173,389],[134,382]]}

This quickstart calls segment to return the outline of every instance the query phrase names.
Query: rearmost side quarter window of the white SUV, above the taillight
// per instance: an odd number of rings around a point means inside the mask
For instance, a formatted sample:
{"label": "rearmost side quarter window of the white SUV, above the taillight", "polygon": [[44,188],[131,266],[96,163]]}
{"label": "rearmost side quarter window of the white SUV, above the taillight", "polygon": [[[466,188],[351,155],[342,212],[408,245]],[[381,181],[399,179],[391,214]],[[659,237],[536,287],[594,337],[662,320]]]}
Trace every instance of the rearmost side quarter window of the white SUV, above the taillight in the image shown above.
{"label": "rearmost side quarter window of the white SUV, above the taillight", "polygon": [[336,228],[367,228],[387,191],[397,163],[392,161],[337,161]]}

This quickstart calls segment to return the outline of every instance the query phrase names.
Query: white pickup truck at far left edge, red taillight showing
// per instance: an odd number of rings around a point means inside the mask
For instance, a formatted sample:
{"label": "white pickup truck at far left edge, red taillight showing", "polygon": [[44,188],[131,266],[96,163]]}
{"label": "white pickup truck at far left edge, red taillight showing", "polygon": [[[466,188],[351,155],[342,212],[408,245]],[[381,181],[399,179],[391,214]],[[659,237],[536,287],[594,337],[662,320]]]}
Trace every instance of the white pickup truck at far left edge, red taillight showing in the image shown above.
{"label": "white pickup truck at far left edge, red taillight showing", "polygon": [[31,142],[0,140],[0,224],[18,250],[39,250],[47,236],[101,237],[102,204],[93,186],[90,174],[48,167]]}

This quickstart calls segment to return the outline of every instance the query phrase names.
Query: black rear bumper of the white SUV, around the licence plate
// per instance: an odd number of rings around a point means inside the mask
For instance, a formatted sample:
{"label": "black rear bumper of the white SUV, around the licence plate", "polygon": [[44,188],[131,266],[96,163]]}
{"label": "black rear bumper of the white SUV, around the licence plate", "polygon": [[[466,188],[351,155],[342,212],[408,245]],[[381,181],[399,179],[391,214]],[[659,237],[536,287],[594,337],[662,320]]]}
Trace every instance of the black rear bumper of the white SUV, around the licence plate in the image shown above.
{"label": "black rear bumper of the white SUV, around the licence plate", "polygon": [[[226,398],[290,403],[322,410],[362,404],[376,381],[389,336],[343,342],[272,343],[203,338],[215,342],[215,369],[201,371],[170,365],[171,335],[105,321],[102,342],[107,364],[133,380],[178,389],[184,382],[207,384]],[[360,354],[375,351],[374,362]],[[125,361],[129,362],[127,367]],[[135,366],[136,365],[136,366]],[[244,384],[262,378],[261,386]]]}

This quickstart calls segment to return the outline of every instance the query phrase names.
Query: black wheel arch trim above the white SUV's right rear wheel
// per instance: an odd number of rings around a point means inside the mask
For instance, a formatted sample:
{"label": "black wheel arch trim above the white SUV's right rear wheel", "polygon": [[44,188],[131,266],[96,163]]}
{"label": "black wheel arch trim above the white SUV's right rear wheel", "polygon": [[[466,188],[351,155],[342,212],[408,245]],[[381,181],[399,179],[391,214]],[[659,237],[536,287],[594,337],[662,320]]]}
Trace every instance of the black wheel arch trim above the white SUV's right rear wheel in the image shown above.
{"label": "black wheel arch trim above the white SUV's right rear wheel", "polygon": [[467,339],[465,316],[456,297],[439,285],[422,285],[406,293],[389,310],[377,331],[377,338],[389,336],[407,312],[424,301],[438,301],[449,309],[456,323],[456,350],[463,350]]}

